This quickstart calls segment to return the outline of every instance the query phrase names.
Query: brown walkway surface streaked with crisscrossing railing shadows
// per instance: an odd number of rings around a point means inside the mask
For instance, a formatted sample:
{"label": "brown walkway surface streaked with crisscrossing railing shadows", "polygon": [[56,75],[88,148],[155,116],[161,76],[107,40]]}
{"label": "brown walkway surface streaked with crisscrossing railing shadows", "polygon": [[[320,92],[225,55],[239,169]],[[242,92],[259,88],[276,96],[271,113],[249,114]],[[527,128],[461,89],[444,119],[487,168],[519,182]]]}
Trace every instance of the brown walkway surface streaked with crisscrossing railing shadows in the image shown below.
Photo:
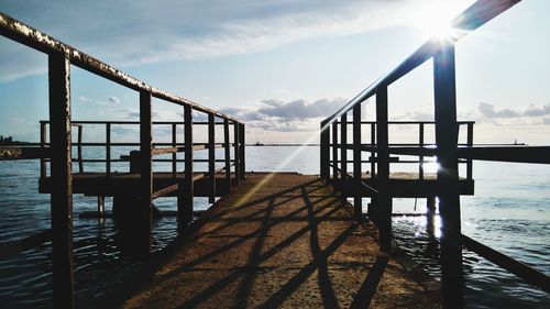
{"label": "brown walkway surface streaked with crisscrossing railing shadows", "polygon": [[316,176],[251,174],[205,216],[123,307],[439,307]]}

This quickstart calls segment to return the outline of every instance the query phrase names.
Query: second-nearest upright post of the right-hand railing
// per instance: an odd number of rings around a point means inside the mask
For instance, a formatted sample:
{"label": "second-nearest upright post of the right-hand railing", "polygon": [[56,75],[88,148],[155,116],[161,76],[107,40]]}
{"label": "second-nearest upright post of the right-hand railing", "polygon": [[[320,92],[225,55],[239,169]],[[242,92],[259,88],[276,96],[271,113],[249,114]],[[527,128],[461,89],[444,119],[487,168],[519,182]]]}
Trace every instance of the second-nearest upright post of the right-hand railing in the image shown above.
{"label": "second-nearest upright post of the right-hand railing", "polygon": [[376,89],[376,147],[377,147],[377,184],[376,221],[380,229],[380,249],[389,252],[392,249],[392,197],[389,192],[389,145],[387,120],[387,86]]}

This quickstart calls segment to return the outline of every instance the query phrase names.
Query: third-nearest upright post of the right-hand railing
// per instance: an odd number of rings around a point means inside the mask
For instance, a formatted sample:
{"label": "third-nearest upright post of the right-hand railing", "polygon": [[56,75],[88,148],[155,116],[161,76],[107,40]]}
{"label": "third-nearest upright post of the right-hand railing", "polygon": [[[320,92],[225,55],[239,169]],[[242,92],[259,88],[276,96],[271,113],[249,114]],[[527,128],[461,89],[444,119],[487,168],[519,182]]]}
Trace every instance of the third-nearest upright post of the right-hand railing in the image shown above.
{"label": "third-nearest upright post of the right-hand railing", "polygon": [[353,209],[355,217],[361,219],[363,214],[363,195],[361,194],[361,103],[353,107],[353,178],[355,180],[355,197],[353,199]]}

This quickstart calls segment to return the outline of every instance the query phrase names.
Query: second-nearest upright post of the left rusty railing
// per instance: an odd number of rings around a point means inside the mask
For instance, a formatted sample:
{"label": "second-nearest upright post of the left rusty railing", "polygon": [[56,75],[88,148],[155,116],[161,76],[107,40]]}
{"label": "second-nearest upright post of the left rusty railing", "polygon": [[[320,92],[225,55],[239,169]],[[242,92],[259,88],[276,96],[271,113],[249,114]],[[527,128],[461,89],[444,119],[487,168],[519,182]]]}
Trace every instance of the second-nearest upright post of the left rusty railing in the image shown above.
{"label": "second-nearest upright post of the left rusty railing", "polygon": [[[151,219],[153,202],[153,124],[151,112],[151,92],[140,91],[140,206],[136,210],[138,222],[135,230],[139,233],[138,251],[151,253]],[[132,223],[132,225],[134,225]]]}

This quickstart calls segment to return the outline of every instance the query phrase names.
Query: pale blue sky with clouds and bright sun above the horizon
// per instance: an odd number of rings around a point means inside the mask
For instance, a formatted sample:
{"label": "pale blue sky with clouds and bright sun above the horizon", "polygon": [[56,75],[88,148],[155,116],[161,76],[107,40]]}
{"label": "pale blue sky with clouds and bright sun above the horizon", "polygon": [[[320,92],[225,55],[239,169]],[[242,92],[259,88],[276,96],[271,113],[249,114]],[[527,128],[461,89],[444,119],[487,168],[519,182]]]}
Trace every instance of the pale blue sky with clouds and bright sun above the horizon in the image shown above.
{"label": "pale blue sky with clouds and bright sun above the horizon", "polygon": [[[243,120],[249,143],[302,143],[317,142],[323,118],[472,2],[0,0],[0,11]],[[476,122],[474,142],[550,144],[549,11],[548,0],[524,0],[457,43],[459,120]],[[38,140],[38,121],[47,119],[46,62],[0,36],[0,135]],[[433,120],[431,60],[391,85],[388,96],[391,120]],[[373,104],[364,103],[365,120],[374,119]],[[139,96],[73,67],[72,109],[73,120],[136,120]],[[160,100],[153,112],[154,120],[182,119],[180,107]],[[391,141],[414,139],[414,131],[392,128]],[[136,128],[113,134],[138,136]],[[155,140],[163,134],[157,130]]]}

